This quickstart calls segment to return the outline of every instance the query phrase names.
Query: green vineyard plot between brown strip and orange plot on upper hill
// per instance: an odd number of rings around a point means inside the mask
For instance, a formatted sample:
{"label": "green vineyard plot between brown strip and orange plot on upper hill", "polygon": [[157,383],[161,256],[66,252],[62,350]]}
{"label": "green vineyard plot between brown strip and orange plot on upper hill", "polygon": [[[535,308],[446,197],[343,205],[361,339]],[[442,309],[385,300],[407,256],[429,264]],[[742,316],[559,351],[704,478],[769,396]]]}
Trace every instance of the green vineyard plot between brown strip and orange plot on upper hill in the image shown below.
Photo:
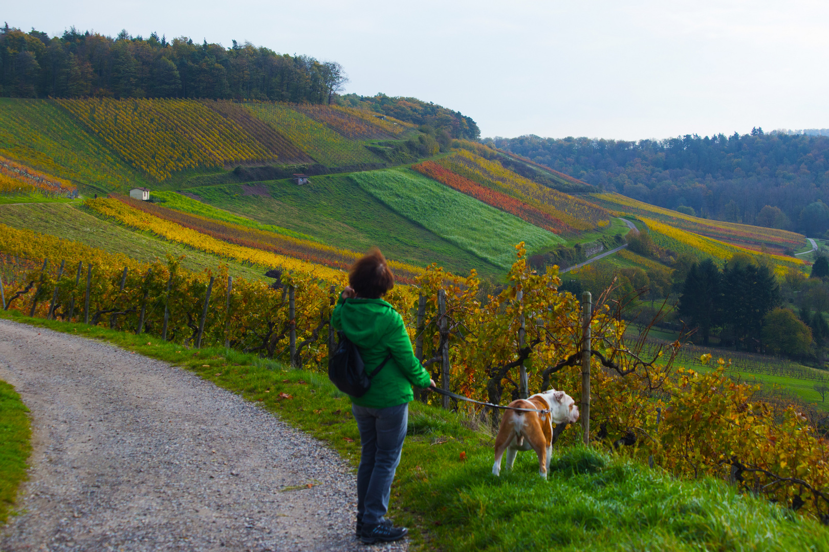
{"label": "green vineyard plot between brown strip and orange plot on upper hill", "polygon": [[280,103],[244,103],[254,115],[282,133],[300,150],[325,166],[379,163],[364,142],[342,137],[322,122]]}

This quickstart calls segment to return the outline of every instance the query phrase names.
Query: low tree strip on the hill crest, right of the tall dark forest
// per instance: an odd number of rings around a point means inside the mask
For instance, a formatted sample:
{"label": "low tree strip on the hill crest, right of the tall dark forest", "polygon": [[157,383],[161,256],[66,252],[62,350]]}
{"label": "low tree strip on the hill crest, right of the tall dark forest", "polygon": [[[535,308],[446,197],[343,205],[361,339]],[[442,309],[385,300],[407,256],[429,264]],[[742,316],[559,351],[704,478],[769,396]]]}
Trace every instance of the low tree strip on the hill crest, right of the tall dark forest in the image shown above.
{"label": "low tree strip on the hill crest, right of the tall dark forest", "polygon": [[[400,121],[413,122],[416,125],[429,127],[432,130],[421,130],[430,134],[446,132],[447,138],[478,140],[481,131],[473,118],[467,117],[458,111],[444,108],[437,103],[424,102],[418,98],[392,98],[385,94],[375,96],[359,96],[357,94],[343,94],[337,97],[336,103],[354,108],[371,109],[388,117]],[[441,142],[441,137],[437,137]]]}

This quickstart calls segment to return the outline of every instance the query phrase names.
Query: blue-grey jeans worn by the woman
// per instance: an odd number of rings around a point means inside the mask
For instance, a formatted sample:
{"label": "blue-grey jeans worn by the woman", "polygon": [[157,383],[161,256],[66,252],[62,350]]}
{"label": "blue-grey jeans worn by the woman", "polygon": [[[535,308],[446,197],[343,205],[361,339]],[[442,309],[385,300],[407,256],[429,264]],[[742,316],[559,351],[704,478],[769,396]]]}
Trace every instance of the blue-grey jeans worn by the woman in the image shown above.
{"label": "blue-grey jeans worn by the woman", "polygon": [[360,430],[362,455],[357,469],[357,521],[381,523],[389,509],[391,482],[409,423],[409,403],[387,408],[351,405]]}

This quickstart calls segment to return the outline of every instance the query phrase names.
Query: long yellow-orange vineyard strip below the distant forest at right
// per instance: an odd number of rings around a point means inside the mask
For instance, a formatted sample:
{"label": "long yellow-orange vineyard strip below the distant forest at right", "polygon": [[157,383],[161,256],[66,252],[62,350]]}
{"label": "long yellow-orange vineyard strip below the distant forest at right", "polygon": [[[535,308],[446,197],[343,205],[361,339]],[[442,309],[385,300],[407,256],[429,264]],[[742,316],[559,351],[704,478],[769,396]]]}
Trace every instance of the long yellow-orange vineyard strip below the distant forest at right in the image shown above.
{"label": "long yellow-orange vineyard strip below the distant forest at right", "polygon": [[797,250],[806,242],[801,234],[788,232],[788,230],[693,217],[671,209],[646,204],[621,194],[590,194],[590,198],[597,204],[619,213],[651,218],[688,232],[755,251],[765,246],[773,252],[783,253],[785,249]]}

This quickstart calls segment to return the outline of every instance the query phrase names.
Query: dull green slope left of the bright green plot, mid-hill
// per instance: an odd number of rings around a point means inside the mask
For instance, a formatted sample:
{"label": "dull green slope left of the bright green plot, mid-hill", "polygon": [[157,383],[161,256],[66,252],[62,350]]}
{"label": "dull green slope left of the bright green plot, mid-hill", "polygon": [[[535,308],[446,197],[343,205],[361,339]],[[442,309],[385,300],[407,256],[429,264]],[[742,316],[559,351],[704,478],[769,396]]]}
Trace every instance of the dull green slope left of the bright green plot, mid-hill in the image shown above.
{"label": "dull green slope left of the bright green plot, mid-hill", "polygon": [[484,276],[503,275],[500,267],[395,213],[347,175],[313,176],[304,186],[290,180],[256,185],[267,195],[245,195],[241,185],[187,191],[219,209],[308,234],[334,247],[361,252],[376,246],[395,261],[418,266],[437,262],[458,274],[475,268]]}

